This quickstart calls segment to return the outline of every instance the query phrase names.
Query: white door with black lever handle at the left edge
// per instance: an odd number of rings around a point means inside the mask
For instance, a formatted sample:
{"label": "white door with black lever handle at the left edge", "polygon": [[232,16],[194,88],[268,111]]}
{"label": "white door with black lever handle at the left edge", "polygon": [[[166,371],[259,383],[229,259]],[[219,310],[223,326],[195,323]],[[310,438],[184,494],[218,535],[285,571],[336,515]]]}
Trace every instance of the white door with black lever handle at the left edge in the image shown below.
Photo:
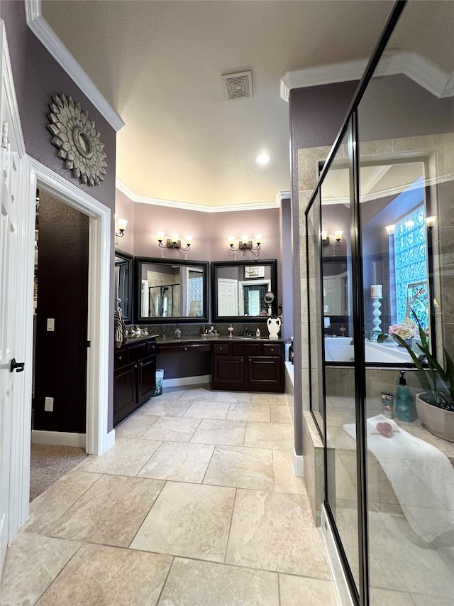
{"label": "white door with black lever handle at the left edge", "polygon": [[[26,326],[26,298],[23,281],[27,278],[28,254],[26,239],[30,226],[27,208],[30,191],[27,187],[25,148],[18,118],[16,96],[12,85],[11,65],[4,23],[0,21],[1,90],[0,90],[0,572],[4,565],[6,546],[16,531],[17,519],[23,517],[22,504],[16,502],[23,476],[16,475],[18,448],[23,447],[24,386],[27,372],[11,362],[26,361],[23,330]],[[31,288],[30,288],[31,291]],[[33,305],[32,300],[30,305]],[[32,309],[30,309],[30,315]],[[28,362],[28,356],[27,356]],[[31,375],[30,375],[31,376]],[[26,377],[26,379],[24,379]],[[31,398],[31,394],[30,394]],[[28,443],[30,429],[28,428]],[[11,454],[13,453],[13,455]],[[25,454],[25,457],[27,455]],[[28,469],[29,469],[28,463]],[[13,473],[11,472],[13,470]],[[23,519],[21,520],[23,521]]]}

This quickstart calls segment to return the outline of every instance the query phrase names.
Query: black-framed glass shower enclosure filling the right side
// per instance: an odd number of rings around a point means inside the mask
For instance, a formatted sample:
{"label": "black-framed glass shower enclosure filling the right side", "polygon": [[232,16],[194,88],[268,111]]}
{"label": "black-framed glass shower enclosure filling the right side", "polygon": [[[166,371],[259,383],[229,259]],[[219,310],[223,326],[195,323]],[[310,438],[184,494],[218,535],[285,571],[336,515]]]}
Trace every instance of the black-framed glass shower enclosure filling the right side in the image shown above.
{"label": "black-framed glass shower enclosure filling the right side", "polygon": [[419,398],[424,337],[453,357],[453,28],[454,3],[394,4],[305,209],[323,520],[353,604],[454,603],[454,408]]}

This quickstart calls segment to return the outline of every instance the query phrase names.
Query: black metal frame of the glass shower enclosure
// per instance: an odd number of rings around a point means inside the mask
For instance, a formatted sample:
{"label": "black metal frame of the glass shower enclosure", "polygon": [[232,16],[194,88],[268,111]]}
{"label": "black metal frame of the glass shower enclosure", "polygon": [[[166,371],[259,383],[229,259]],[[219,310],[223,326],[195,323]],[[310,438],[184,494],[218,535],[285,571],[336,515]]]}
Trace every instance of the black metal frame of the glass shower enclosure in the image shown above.
{"label": "black metal frame of the glass shower enclosure", "polygon": [[[309,211],[316,201],[321,200],[321,185],[330,170],[333,160],[336,157],[343,139],[348,134],[348,169],[350,177],[350,241],[352,255],[352,292],[353,292],[353,310],[352,320],[356,330],[353,334],[353,345],[355,350],[355,424],[356,424],[356,456],[357,456],[357,502],[358,502],[358,563],[359,563],[359,588],[356,586],[353,578],[353,573],[350,570],[348,558],[343,549],[341,536],[338,533],[336,520],[331,511],[330,504],[326,499],[326,487],[328,486],[328,448],[326,440],[326,406],[323,405],[323,431],[320,430],[319,424],[314,417],[316,427],[321,434],[323,440],[323,481],[325,486],[325,498],[323,508],[326,513],[326,518],[330,524],[330,531],[333,540],[336,544],[337,556],[341,562],[343,569],[343,578],[345,578],[350,593],[352,603],[358,606],[368,606],[370,603],[370,572],[369,572],[369,548],[368,548],[368,531],[367,531],[367,444],[366,444],[366,414],[365,414],[365,385],[366,385],[366,366],[365,366],[365,346],[363,335],[365,332],[364,317],[363,317],[363,288],[362,288],[362,254],[361,254],[361,239],[360,234],[360,154],[359,154],[359,138],[358,138],[358,106],[365,94],[367,85],[372,79],[377,65],[382,57],[384,49],[387,47],[389,38],[391,38],[394,28],[399,21],[402,11],[406,6],[407,0],[397,0],[394,3],[391,13],[389,14],[387,23],[384,27],[380,40],[378,41],[372,57],[367,63],[364,75],[360,80],[358,89],[355,92],[353,101],[348,109],[345,122],[339,131],[333,147],[331,148],[328,158],[323,165],[319,180],[316,184],[314,193],[311,195],[308,205],[304,210],[306,221],[306,234],[309,234]],[[321,229],[321,225],[319,225]],[[321,241],[320,241],[321,247]],[[319,255],[320,259],[320,275],[323,276],[322,265],[323,256]],[[309,267],[309,239],[306,235],[306,276],[309,281],[311,268]],[[323,301],[323,283],[319,284],[321,301]],[[307,288],[308,308],[309,308],[309,283]],[[323,316],[322,316],[323,321]],[[311,323],[308,324],[309,343],[311,343]],[[323,334],[323,332],[322,332]],[[321,397],[323,403],[326,401],[326,376],[325,376],[325,359],[324,348],[322,347],[322,390]],[[309,393],[311,397],[311,348],[309,347]],[[312,413],[312,410],[311,410]],[[312,413],[314,416],[314,413]],[[358,590],[359,589],[359,590]]]}

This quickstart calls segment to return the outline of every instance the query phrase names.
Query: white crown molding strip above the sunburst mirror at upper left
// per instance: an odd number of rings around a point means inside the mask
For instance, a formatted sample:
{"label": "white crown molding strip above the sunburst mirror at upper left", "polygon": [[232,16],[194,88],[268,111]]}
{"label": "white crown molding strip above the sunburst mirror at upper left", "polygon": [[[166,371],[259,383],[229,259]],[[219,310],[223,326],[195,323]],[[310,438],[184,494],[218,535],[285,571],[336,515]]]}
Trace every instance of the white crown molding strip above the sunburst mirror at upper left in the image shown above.
{"label": "white crown molding strip above the sunburst mirror at upper left", "polygon": [[49,51],[52,57],[61,65],[67,75],[79,87],[85,96],[94,104],[102,116],[109,122],[112,128],[118,132],[125,123],[109,104],[106,98],[99,92],[94,82],[84,72],[81,65],[77,63],[62,40],[50,27],[41,13],[41,0],[24,0],[26,5],[27,25],[33,31],[40,43]]}

